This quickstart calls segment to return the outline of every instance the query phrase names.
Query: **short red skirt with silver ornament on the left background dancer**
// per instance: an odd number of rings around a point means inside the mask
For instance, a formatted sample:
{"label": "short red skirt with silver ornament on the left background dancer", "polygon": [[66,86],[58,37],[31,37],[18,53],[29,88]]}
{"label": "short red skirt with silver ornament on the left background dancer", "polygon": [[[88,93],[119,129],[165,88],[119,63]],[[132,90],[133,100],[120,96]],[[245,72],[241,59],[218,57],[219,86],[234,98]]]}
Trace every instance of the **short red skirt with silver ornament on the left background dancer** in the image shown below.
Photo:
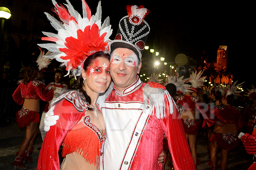
{"label": "short red skirt with silver ornament on the left background dancer", "polygon": [[38,112],[22,108],[16,113],[16,122],[19,127],[26,127],[31,122],[39,123],[39,117]]}

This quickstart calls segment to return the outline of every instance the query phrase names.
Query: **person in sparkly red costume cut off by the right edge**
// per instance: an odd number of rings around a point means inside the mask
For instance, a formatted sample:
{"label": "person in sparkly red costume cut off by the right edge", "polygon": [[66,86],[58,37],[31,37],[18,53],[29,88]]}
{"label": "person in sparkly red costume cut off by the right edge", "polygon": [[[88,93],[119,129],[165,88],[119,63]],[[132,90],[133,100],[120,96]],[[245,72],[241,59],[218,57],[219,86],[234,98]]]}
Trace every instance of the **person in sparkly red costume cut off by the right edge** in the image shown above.
{"label": "person in sparkly red costume cut off by the right edge", "polygon": [[[256,124],[256,117],[253,121]],[[256,126],[253,128],[253,133],[250,135],[249,133],[245,133],[242,135],[241,140],[245,147],[245,150],[248,154],[253,155],[253,164],[248,168],[248,170],[256,169]]]}

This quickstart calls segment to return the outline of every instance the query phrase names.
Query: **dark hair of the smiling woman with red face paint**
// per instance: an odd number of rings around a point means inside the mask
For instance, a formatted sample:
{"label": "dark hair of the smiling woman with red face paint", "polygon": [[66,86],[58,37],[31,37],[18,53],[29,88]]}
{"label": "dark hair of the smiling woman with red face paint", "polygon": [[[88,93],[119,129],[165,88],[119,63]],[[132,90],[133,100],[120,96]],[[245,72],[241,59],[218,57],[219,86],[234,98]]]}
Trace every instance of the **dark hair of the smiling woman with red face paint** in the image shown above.
{"label": "dark hair of the smiling woman with red face paint", "polygon": [[[90,56],[88,56],[86,58],[86,60],[84,61],[84,65],[83,65],[83,69],[84,70],[87,70],[88,67],[90,65],[92,65],[92,63],[94,62],[94,60],[98,57],[103,57],[103,58],[106,58],[108,60],[110,60],[110,55],[109,54],[106,54],[102,51],[99,51],[99,52],[96,52]],[[71,88],[71,89],[76,89],[76,90],[80,90],[82,92],[82,94],[84,95],[85,99],[86,99],[86,102],[89,103],[89,105],[91,104],[91,98],[87,95],[86,91],[83,89],[83,77],[82,77],[82,74],[78,77],[78,81],[77,83]],[[91,110],[91,108],[88,108],[89,110]]]}

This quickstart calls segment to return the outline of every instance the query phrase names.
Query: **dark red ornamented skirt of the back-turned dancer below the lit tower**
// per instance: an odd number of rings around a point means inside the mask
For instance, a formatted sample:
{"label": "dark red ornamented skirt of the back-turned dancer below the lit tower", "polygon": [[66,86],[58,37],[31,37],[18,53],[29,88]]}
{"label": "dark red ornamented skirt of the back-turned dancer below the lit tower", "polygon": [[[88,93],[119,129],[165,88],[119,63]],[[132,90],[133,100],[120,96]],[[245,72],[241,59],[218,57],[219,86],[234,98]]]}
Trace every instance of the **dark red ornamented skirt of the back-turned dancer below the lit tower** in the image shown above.
{"label": "dark red ornamented skirt of the back-turned dancer below the lit tower", "polygon": [[222,149],[225,150],[231,150],[238,146],[238,135],[237,134],[232,134],[232,133],[216,133],[212,132],[212,136],[210,141],[214,143],[215,141],[217,142],[218,145]]}

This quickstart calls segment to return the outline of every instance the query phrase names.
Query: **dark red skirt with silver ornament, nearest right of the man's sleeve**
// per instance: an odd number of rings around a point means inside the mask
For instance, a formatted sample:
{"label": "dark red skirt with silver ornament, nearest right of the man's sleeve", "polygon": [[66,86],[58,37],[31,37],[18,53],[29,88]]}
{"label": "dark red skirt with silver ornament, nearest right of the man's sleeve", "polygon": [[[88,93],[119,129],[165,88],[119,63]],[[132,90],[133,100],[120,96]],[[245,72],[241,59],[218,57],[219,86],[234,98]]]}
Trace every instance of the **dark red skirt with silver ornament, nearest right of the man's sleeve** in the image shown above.
{"label": "dark red skirt with silver ornament, nearest right of the man's sleeve", "polygon": [[183,123],[183,127],[185,130],[185,133],[189,135],[193,135],[197,132],[197,130],[200,127],[200,122],[197,120],[191,120],[191,119],[182,119],[181,121]]}

